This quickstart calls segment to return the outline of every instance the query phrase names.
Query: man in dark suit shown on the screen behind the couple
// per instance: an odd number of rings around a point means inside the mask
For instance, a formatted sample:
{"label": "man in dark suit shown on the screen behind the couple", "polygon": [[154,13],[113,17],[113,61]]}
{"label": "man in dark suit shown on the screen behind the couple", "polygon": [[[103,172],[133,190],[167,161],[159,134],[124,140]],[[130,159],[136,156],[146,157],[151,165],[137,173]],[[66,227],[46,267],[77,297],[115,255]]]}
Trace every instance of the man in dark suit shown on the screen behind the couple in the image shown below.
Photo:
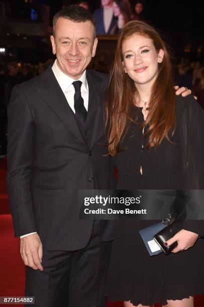
{"label": "man in dark suit shown on the screen behind the couple", "polygon": [[113,0],[101,0],[102,8],[94,12],[96,33],[98,35],[111,34],[117,25],[118,18],[113,15]]}

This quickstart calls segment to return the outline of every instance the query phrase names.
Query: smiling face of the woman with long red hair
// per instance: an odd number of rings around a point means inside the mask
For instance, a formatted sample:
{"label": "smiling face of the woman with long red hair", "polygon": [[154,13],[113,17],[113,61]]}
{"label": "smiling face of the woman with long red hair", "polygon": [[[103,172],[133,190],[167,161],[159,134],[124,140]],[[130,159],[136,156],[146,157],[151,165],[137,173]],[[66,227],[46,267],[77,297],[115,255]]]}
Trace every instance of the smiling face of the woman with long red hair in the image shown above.
{"label": "smiling face of the woman with long red hair", "polygon": [[122,43],[123,66],[135,86],[151,86],[157,77],[158,63],[163,60],[163,50],[157,54],[151,39],[133,34]]}

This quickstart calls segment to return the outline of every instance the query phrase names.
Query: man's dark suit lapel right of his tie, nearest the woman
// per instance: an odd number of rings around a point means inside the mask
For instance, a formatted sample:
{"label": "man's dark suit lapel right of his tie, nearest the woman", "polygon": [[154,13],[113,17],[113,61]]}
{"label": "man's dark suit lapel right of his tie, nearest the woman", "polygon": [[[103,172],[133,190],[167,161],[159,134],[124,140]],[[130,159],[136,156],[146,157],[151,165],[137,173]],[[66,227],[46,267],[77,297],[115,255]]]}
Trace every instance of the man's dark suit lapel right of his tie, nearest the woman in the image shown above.
{"label": "man's dark suit lapel right of his tie, nearest the woman", "polygon": [[101,108],[101,100],[104,96],[104,88],[101,88],[100,82],[96,81],[93,76],[90,75],[89,71],[87,71],[87,82],[89,86],[89,106],[86,125],[91,123],[93,126],[90,141],[90,147],[92,147],[97,141],[99,132],[101,130],[103,131],[104,129],[103,112]]}

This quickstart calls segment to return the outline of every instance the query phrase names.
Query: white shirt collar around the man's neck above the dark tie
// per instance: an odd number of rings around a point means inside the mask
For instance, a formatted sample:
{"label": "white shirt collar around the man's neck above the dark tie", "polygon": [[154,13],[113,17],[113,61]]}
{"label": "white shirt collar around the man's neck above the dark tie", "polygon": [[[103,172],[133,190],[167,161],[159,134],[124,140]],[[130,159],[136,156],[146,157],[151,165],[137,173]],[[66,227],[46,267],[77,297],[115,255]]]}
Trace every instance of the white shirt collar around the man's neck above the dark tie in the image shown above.
{"label": "white shirt collar around the man's neck above the dark tie", "polygon": [[[76,80],[72,79],[65,73],[63,73],[57,64],[57,59],[55,60],[52,66],[53,73],[63,91],[63,93],[68,89],[68,87]],[[85,85],[86,90],[88,89],[87,80],[86,80],[86,70],[83,72],[83,75],[79,78],[79,80]]]}

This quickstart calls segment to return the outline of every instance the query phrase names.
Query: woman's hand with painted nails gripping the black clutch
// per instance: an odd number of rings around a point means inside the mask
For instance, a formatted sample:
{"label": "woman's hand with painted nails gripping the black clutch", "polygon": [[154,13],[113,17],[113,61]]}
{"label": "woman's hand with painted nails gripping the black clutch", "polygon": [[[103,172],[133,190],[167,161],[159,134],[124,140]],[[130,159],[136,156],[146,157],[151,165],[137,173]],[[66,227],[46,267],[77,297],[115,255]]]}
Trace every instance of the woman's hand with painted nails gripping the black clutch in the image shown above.
{"label": "woman's hand with painted nails gripping the black clutch", "polygon": [[198,234],[182,229],[171,239],[166,241],[167,244],[165,243],[165,246],[171,245],[173,242],[177,241],[178,245],[171,251],[172,253],[177,253],[192,247],[195,244],[197,238]]}

